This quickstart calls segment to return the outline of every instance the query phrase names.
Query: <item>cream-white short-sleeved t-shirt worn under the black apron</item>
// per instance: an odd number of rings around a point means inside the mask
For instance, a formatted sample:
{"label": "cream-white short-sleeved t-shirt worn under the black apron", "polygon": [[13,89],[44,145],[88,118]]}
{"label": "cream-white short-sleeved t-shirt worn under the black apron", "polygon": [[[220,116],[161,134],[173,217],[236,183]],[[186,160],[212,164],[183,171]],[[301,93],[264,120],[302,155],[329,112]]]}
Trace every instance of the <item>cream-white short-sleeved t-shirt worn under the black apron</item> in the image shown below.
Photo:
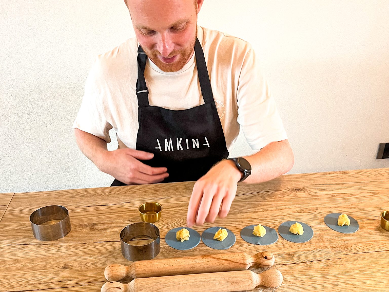
{"label": "cream-white short-sleeved t-shirt worn under the black apron", "polygon": [[[212,92],[230,151],[242,126],[253,150],[287,139],[281,118],[252,46],[242,39],[197,27]],[[81,108],[73,128],[110,142],[114,128],[119,148],[136,147],[138,100],[136,38],[98,55],[85,84]],[[166,73],[147,58],[144,72],[149,104],[172,110],[204,104],[195,54],[178,72]],[[150,117],[152,118],[152,117]]]}

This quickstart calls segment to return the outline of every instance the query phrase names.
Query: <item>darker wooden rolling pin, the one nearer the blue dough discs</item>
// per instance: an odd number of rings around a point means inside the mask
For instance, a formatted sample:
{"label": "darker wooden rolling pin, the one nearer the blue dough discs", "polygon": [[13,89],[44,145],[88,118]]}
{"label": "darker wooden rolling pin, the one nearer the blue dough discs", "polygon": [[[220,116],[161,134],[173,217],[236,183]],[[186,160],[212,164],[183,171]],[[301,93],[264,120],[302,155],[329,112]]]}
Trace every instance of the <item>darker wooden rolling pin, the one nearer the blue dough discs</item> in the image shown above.
{"label": "darker wooden rolling pin, the one nearer the blue dough discs", "polygon": [[126,276],[149,278],[160,276],[215,273],[247,270],[252,265],[271,267],[274,256],[271,252],[259,252],[252,257],[245,252],[219,253],[173,259],[140,260],[130,266],[112,264],[105,268],[108,281],[119,281]]}

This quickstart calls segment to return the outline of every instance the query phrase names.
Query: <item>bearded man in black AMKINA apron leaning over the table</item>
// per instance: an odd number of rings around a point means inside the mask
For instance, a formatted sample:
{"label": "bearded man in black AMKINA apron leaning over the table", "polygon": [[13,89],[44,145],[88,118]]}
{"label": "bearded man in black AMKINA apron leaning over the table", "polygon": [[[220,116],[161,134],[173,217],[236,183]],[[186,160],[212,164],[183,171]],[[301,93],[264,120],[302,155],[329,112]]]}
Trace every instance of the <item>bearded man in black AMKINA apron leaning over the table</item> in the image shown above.
{"label": "bearded man in black AMKINA apron leaning over the table", "polygon": [[[113,186],[196,181],[189,227],[227,216],[238,182],[268,181],[294,163],[252,47],[197,26],[202,4],[127,0],[136,38],[98,56],[73,126]],[[260,151],[226,159],[239,125]],[[107,151],[111,128],[115,151]]]}

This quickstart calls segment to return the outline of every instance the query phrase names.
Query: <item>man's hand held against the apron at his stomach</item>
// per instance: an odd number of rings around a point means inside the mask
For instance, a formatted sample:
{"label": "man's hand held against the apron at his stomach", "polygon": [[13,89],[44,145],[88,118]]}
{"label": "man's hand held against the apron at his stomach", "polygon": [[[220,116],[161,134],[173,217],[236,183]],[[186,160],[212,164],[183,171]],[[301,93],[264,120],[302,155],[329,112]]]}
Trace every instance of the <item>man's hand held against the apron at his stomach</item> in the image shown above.
{"label": "man's hand held against the apron at his stomach", "polygon": [[167,168],[151,167],[139,161],[153,157],[152,153],[129,148],[104,151],[97,166],[126,185],[159,183],[169,176]]}

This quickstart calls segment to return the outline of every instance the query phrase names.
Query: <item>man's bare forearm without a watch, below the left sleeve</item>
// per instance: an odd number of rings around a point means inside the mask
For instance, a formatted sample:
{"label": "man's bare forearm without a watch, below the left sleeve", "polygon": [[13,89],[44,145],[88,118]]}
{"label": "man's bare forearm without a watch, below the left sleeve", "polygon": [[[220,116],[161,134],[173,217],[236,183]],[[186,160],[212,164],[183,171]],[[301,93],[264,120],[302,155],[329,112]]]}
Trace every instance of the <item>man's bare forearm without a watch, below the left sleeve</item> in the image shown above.
{"label": "man's bare forearm without a watch, below the left sleeve", "polygon": [[101,170],[103,154],[107,152],[107,142],[77,128],[74,129],[74,135],[81,152]]}

